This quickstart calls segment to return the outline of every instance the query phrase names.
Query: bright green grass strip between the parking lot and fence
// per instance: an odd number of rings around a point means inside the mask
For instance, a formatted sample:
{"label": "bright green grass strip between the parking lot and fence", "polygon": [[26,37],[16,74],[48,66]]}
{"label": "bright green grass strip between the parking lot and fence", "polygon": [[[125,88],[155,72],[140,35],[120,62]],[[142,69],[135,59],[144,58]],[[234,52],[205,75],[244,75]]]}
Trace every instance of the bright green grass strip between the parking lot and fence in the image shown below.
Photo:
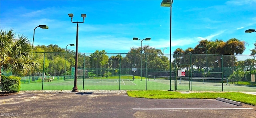
{"label": "bright green grass strip between the parking lot and fence", "polygon": [[216,99],[218,97],[242,102],[256,106],[256,96],[251,94],[244,94],[240,92],[196,92],[182,94],[180,92],[161,91],[161,90],[128,90],[128,96],[136,98],[149,99]]}

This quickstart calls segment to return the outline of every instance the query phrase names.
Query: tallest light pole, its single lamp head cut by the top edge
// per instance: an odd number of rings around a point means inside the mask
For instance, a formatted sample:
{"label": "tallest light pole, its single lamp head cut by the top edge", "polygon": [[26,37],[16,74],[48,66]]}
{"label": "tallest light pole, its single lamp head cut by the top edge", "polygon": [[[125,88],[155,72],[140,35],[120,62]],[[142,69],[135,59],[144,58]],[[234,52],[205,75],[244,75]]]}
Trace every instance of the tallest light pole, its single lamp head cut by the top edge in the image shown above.
{"label": "tallest light pole, its single lamp head cut by the top edge", "polygon": [[161,2],[161,6],[170,7],[170,91],[172,91],[172,3],[173,0],[162,0]]}

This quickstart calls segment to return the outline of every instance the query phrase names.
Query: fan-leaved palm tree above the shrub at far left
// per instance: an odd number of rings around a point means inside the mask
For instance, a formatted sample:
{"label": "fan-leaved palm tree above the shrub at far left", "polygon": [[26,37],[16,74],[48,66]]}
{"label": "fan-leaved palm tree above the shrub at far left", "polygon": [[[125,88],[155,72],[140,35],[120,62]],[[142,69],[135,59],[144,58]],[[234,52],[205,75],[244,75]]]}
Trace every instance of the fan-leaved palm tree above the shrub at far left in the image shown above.
{"label": "fan-leaved palm tree above the shrub at far left", "polygon": [[32,48],[26,36],[16,34],[13,29],[1,29],[0,34],[0,82],[2,68],[12,70],[15,75],[24,75],[39,66],[32,59]]}

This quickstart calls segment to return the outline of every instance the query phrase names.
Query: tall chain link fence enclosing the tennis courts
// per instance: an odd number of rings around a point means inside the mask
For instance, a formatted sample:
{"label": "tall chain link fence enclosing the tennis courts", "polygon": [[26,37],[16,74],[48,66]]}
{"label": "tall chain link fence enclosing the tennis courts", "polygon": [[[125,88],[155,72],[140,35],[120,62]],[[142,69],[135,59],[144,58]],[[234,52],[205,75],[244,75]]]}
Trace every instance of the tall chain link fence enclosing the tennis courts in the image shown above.
{"label": "tall chain link fence enclosing the tennis courts", "polygon": [[[40,67],[2,75],[20,76],[20,90],[72,90],[75,53],[33,56]],[[255,91],[255,74],[255,56],[78,53],[76,80],[78,90]]]}

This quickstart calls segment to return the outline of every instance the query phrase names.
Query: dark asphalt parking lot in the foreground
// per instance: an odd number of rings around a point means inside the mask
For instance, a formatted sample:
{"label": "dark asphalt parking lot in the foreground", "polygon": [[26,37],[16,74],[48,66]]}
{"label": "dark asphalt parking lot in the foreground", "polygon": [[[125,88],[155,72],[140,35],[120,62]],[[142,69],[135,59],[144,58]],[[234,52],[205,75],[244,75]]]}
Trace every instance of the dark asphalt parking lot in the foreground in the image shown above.
{"label": "dark asphalt parking lot in the foreground", "polygon": [[21,93],[0,97],[1,117],[255,118],[256,106],[215,99],[145,99],[126,93]]}

